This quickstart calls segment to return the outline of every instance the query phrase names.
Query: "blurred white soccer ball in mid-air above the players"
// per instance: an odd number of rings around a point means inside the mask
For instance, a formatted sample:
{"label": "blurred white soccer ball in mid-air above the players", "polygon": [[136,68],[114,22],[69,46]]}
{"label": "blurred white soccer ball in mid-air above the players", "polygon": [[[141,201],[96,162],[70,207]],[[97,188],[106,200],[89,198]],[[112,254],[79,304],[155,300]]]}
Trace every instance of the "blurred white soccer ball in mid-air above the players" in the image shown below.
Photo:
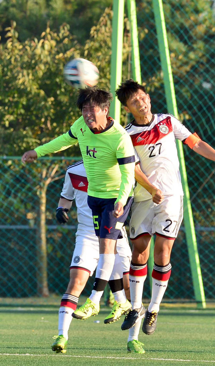
{"label": "blurred white soccer ball in mid-air above the players", "polygon": [[63,75],[67,84],[77,89],[96,85],[99,80],[96,65],[81,58],[68,61],[64,66]]}

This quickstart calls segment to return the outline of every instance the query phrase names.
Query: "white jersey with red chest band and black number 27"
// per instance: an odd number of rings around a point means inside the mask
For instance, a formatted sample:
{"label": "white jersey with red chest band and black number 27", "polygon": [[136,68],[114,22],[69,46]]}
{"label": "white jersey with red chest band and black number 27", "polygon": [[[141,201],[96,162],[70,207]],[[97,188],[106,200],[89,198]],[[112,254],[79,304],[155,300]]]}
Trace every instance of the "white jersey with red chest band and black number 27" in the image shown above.
{"label": "white jersey with red chest band and black number 27", "polygon": [[[129,133],[140,167],[150,183],[164,195],[183,195],[179,160],[175,139],[185,140],[191,132],[170,114],[155,114],[148,125],[129,123]],[[151,194],[139,183],[134,188],[134,201],[151,198]]]}

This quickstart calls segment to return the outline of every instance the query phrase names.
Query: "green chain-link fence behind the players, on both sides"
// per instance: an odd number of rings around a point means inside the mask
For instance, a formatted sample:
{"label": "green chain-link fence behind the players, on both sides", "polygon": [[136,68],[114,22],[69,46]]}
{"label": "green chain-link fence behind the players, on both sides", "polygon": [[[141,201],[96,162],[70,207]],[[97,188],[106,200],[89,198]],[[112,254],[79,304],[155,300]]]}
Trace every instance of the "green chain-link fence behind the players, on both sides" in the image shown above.
{"label": "green chain-link fence behind the players, on both sides", "polygon": [[[151,97],[152,112],[168,112],[153,1],[137,0],[136,5],[142,81]],[[214,1],[164,0],[163,6],[179,118],[214,146]],[[214,301],[214,162],[187,146],[184,154],[205,297]],[[77,221],[75,206],[64,226],[57,224],[55,210],[66,167],[79,158],[41,158],[26,166],[20,157],[0,160],[0,297],[61,295],[69,279]],[[183,223],[171,264],[165,300],[194,301]],[[92,279],[83,294],[88,295],[91,288]],[[148,279],[144,288],[144,297],[149,298]]]}

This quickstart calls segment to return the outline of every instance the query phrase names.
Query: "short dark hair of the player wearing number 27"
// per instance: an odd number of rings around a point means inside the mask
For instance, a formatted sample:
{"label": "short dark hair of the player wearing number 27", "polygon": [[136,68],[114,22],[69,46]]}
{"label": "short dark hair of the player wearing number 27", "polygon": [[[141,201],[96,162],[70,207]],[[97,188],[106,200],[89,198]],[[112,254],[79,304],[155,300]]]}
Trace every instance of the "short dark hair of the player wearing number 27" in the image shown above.
{"label": "short dark hair of the player wearing number 27", "polygon": [[133,79],[129,79],[119,85],[118,89],[116,89],[116,96],[123,105],[126,105],[127,100],[130,99],[133,94],[137,93],[138,89],[141,89],[146,93],[144,86],[138,84],[138,82]]}

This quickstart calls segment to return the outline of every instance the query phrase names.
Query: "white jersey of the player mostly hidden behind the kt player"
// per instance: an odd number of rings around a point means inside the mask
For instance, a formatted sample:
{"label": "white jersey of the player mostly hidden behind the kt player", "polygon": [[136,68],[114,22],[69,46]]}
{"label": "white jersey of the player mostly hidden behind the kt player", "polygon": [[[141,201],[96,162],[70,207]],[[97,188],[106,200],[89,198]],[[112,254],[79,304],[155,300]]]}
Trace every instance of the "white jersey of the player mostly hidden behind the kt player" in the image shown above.
{"label": "white jersey of the player mostly hidden behind the kt player", "polygon": [[67,168],[60,197],[70,201],[73,201],[75,198],[78,226],[88,226],[90,230],[89,234],[95,235],[92,211],[87,203],[87,188],[88,180],[86,178],[83,160],[81,160]]}

